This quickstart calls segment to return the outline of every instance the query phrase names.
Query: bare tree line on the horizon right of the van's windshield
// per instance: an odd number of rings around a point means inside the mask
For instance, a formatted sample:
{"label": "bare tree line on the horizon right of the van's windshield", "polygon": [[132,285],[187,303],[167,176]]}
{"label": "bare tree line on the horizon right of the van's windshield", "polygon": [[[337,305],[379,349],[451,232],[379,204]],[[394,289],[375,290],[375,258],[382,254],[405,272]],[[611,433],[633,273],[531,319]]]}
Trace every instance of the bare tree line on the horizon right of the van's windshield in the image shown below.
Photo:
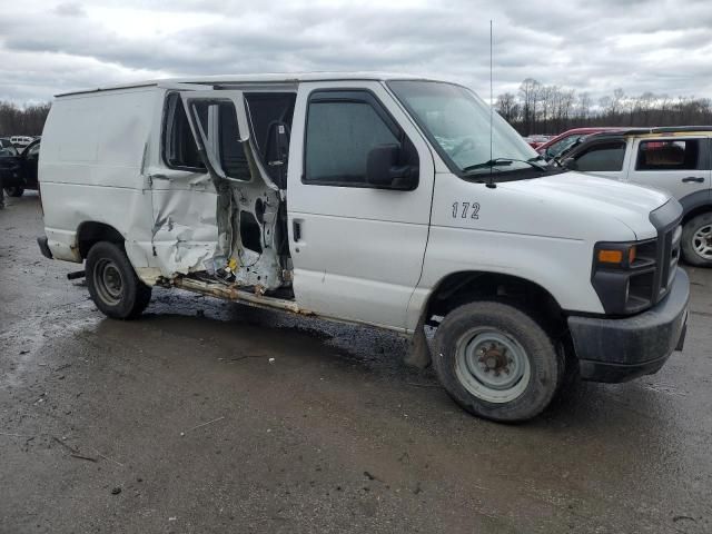
{"label": "bare tree line on the horizon right of the van's windshield", "polygon": [[496,110],[523,136],[555,135],[590,126],[709,126],[712,99],[644,92],[626,95],[617,88],[594,101],[589,92],[546,86],[525,79],[516,93],[497,97]]}

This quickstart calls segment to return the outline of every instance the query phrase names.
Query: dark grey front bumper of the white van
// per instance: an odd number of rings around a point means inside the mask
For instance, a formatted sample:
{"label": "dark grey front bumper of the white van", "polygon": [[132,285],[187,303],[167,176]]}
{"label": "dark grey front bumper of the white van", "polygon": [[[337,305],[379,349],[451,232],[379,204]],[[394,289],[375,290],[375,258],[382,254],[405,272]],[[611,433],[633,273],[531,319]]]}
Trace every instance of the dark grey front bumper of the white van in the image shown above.
{"label": "dark grey front bumper of the white van", "polygon": [[673,350],[682,350],[690,279],[678,268],[669,294],[656,306],[622,319],[568,317],[584,380],[626,382],[656,373]]}

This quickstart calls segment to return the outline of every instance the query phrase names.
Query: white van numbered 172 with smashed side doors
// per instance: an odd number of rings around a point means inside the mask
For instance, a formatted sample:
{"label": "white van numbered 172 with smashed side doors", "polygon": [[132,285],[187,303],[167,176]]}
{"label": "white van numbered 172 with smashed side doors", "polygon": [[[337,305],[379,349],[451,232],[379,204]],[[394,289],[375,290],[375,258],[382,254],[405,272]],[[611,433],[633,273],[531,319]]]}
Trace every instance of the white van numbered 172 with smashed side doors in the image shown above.
{"label": "white van numbered 172 with smashed side doors", "polygon": [[682,348],[678,201],[544,166],[454,83],[270,75],[61,95],[39,174],[40,248],[86,261],[109,317],[137,317],[158,285],[387,328],[497,421],[541,413],[566,375],[623,382]]}

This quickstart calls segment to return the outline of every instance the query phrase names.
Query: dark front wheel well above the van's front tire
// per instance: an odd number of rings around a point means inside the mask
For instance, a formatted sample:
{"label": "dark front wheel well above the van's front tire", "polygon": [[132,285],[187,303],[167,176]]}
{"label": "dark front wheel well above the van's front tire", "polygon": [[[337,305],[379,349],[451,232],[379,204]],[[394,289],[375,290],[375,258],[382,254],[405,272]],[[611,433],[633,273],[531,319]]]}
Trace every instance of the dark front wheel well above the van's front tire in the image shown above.
{"label": "dark front wheel well above the van's front tire", "polygon": [[535,319],[550,327],[565,327],[565,316],[556,299],[542,286],[525,278],[498,273],[464,271],[446,276],[435,287],[425,309],[425,324],[444,317],[474,300],[501,300],[536,312]]}

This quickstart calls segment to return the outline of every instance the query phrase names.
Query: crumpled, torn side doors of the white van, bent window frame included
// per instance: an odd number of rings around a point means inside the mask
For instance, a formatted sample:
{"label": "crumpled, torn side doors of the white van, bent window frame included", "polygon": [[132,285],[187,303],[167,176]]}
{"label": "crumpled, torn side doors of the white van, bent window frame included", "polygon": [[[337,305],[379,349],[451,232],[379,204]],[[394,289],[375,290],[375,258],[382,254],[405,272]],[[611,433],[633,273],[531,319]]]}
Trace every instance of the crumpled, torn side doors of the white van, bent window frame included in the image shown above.
{"label": "crumpled, torn side doors of the white van, bent window frame included", "polygon": [[[179,98],[176,105],[185,110],[206,171],[147,172],[155,263],[168,279],[202,273],[261,290],[284,286],[288,247],[281,191],[250,138],[241,93],[180,91]],[[172,126],[166,128],[170,132]]]}

